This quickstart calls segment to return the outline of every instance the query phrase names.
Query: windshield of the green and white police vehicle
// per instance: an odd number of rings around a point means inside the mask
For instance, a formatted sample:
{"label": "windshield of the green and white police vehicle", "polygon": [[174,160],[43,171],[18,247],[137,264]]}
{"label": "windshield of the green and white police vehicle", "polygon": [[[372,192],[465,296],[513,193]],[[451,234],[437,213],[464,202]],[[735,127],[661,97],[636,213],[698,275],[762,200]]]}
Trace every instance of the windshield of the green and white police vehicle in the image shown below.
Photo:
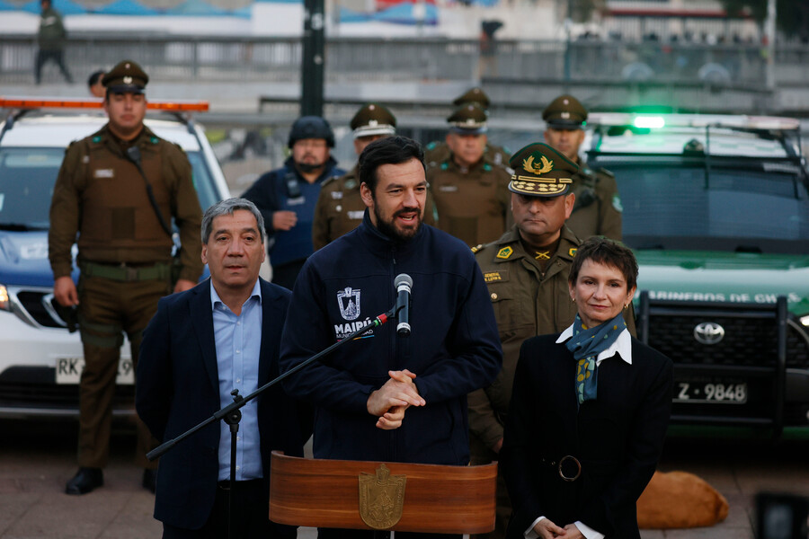
{"label": "windshield of the green and white police vehicle", "polygon": [[649,162],[609,170],[633,247],[792,252],[809,240],[809,196],[794,172],[712,167],[706,176],[701,165]]}

